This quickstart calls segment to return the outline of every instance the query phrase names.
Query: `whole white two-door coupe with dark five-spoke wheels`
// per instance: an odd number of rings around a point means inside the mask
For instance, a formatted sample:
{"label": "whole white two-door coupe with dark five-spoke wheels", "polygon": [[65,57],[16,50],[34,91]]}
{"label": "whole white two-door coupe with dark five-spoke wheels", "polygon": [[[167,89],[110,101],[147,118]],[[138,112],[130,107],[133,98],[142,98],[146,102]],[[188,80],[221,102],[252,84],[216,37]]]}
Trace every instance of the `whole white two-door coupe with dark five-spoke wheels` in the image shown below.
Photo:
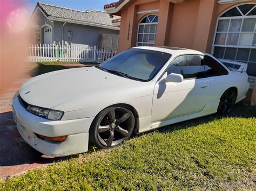
{"label": "whole white two-door coupe with dark five-spoke wheels", "polygon": [[63,156],[89,142],[112,148],[133,132],[218,112],[249,88],[246,64],[228,69],[212,55],[173,47],[130,48],[96,67],[26,81],[13,98],[19,133],[37,151]]}

